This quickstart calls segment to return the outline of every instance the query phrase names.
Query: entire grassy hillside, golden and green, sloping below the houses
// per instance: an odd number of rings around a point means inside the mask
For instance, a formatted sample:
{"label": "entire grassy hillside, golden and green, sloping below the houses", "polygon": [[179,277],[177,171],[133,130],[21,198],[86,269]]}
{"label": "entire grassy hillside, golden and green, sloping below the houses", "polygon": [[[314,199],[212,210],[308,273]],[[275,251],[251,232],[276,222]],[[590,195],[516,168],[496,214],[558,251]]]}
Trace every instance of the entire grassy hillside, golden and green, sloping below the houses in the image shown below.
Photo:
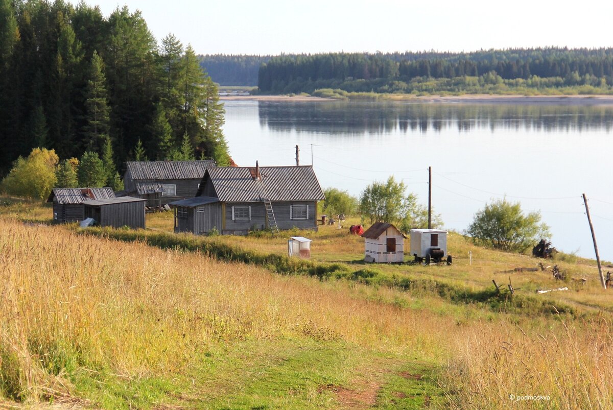
{"label": "entire grassy hillside, golden and green, sloping below the houses", "polygon": [[[50,208],[13,199],[0,214],[0,408],[613,404],[612,306],[590,260],[554,262],[584,286],[495,273],[536,260],[454,233],[450,267],[373,267],[359,262],[362,240],[323,227],[303,232],[314,239],[303,267],[278,259],[287,233],[170,235],[170,215],[151,214],[142,233],[83,235],[39,226]],[[222,245],[253,260],[222,260],[211,251]],[[492,278],[509,276],[516,297],[492,297]],[[572,290],[533,292],[562,285]]]}

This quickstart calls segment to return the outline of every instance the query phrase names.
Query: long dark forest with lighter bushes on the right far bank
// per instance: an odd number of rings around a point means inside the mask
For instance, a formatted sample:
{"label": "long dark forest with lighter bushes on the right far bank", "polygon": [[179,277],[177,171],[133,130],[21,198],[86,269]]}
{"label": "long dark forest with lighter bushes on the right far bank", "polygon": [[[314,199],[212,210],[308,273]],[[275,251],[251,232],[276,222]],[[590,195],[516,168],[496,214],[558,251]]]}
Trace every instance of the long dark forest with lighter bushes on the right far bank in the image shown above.
{"label": "long dark forest with lighter bushes on the right far bank", "polygon": [[611,93],[613,48],[275,56],[261,93]]}

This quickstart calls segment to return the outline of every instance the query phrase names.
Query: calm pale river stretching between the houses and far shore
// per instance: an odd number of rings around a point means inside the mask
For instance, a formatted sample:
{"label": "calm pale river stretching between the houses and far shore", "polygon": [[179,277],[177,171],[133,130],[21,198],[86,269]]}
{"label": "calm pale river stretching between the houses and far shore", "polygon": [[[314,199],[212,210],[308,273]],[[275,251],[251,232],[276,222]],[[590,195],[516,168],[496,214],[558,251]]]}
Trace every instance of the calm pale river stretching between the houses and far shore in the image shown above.
{"label": "calm pale river stretching between the houses and far shore", "polygon": [[613,260],[613,106],[226,101],[224,134],[241,166],[313,162],[323,188],[359,196],[389,175],[433,207],[448,229],[506,196],[539,210],[554,246]]}

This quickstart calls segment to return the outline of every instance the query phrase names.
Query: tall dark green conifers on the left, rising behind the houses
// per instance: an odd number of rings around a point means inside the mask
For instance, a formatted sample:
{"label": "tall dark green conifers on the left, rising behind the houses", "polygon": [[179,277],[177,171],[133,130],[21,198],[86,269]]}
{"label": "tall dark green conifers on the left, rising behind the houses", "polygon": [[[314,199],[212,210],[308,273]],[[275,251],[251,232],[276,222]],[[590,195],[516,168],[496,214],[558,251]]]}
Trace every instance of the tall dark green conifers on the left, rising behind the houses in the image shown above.
{"label": "tall dark green conifers on the left, rising behind the houses", "polygon": [[0,21],[0,174],[34,147],[229,163],[218,89],[191,46],[158,44],[140,12],[0,0]]}

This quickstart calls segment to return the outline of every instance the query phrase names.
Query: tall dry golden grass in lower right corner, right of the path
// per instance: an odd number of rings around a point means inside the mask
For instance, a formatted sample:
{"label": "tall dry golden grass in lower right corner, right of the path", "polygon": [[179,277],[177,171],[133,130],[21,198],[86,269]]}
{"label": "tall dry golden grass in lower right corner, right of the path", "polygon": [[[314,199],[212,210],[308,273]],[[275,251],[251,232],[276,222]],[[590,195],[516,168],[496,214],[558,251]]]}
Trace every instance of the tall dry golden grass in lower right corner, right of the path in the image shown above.
{"label": "tall dry golden grass in lower right corner, right of the path", "polygon": [[473,327],[452,340],[452,406],[613,408],[611,318]]}

